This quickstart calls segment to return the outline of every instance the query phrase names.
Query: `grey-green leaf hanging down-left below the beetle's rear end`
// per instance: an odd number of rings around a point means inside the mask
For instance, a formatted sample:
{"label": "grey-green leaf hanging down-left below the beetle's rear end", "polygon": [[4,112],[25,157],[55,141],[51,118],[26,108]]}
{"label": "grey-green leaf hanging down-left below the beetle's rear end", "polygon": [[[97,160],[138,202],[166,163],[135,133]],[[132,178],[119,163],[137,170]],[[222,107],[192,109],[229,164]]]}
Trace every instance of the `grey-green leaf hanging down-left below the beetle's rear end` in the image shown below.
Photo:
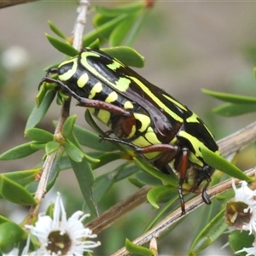
{"label": "grey-green leaf hanging down-left below the beetle's rear end", "polygon": [[44,96],[43,102],[41,102],[40,106],[37,108],[33,108],[32,113],[29,115],[26,121],[26,128],[28,130],[36,125],[44,118],[45,113],[47,113],[49,106],[53,99],[55,98],[56,91],[48,90]]}

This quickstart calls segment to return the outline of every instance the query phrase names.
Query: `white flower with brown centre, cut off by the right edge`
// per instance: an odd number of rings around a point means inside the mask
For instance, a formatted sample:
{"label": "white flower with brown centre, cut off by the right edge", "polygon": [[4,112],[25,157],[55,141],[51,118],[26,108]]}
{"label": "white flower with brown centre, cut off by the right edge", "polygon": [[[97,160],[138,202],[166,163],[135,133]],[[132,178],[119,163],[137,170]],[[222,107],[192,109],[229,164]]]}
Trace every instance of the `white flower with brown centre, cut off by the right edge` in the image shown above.
{"label": "white flower with brown centre, cut off by the right edge", "polygon": [[248,188],[247,182],[241,181],[241,188],[232,186],[235,198],[227,203],[226,220],[236,230],[247,230],[249,235],[256,232],[256,191]]}

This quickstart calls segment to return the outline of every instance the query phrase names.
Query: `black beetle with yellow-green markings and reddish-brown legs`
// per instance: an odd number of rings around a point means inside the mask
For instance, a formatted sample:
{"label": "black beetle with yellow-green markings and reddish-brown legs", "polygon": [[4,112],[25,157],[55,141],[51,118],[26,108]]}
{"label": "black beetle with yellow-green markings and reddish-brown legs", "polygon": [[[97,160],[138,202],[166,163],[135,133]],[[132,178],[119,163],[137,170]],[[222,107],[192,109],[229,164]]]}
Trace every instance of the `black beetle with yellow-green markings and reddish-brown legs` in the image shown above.
{"label": "black beetle with yellow-green markings and reddish-brown legs", "polygon": [[101,50],[89,48],[50,68],[44,82],[61,86],[108,125],[114,137],[105,140],[130,146],[161,172],[169,173],[172,163],[179,175],[183,213],[183,183],[189,173],[194,175],[191,191],[206,181],[202,199],[211,203],[206,190],[214,169],[203,160],[201,148],[219,154],[218,145],[207,125],[165,90]]}

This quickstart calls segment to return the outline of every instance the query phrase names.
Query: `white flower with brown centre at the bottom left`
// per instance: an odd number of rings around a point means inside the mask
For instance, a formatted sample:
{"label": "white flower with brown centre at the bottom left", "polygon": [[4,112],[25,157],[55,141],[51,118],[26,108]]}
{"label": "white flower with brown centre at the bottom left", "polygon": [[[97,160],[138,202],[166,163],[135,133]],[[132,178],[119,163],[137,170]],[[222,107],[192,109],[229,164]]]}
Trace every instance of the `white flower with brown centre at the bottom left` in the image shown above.
{"label": "white flower with brown centre at the bottom left", "polygon": [[79,256],[84,252],[92,252],[90,249],[98,247],[100,242],[87,240],[96,237],[82,224],[84,218],[88,216],[89,214],[78,211],[67,219],[61,195],[58,194],[53,219],[40,213],[35,226],[26,225],[26,228],[31,230],[32,235],[36,236],[40,243],[37,255]]}

